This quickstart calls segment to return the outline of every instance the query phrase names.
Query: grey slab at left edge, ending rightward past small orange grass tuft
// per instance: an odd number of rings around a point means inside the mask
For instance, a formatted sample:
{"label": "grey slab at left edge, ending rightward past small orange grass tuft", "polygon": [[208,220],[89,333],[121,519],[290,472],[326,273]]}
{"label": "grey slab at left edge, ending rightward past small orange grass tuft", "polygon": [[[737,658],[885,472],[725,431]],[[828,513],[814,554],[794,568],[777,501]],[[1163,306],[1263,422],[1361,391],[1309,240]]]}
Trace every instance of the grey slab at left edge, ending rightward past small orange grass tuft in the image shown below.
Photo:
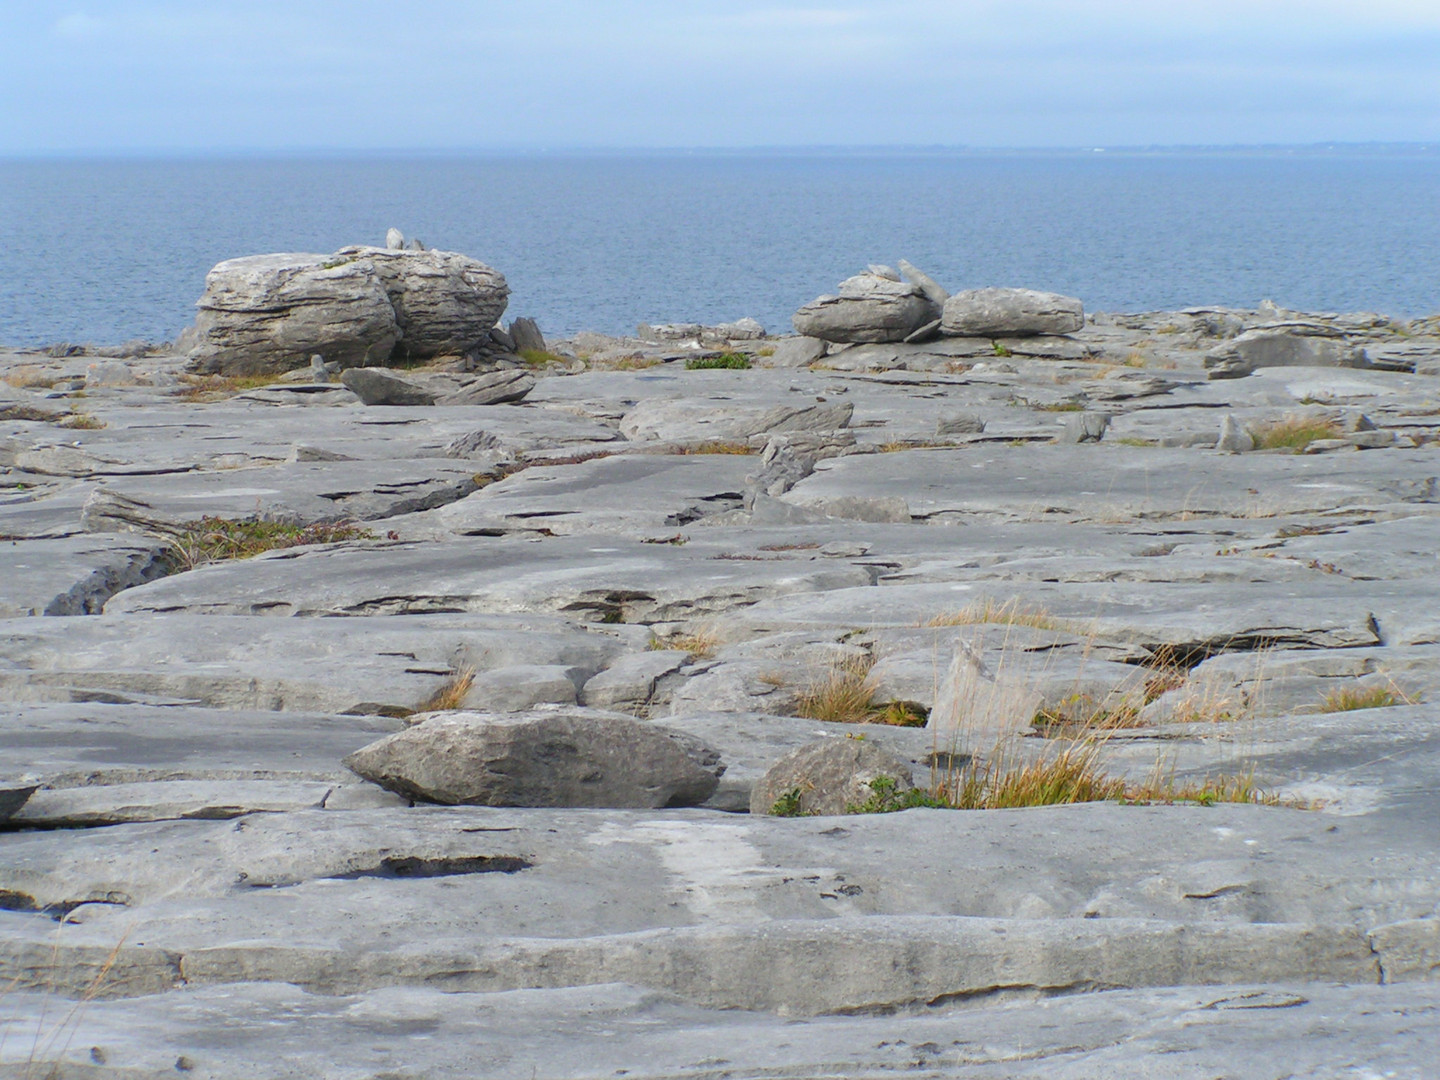
{"label": "grey slab at left edge, ending rightward past small orange grass tuft", "polygon": [[626,641],[621,629],[586,632],[543,615],[425,615],[359,629],[348,619],[264,616],[9,619],[0,687],[17,701],[158,694],[212,708],[403,710],[465,667],[540,658],[598,672]]}

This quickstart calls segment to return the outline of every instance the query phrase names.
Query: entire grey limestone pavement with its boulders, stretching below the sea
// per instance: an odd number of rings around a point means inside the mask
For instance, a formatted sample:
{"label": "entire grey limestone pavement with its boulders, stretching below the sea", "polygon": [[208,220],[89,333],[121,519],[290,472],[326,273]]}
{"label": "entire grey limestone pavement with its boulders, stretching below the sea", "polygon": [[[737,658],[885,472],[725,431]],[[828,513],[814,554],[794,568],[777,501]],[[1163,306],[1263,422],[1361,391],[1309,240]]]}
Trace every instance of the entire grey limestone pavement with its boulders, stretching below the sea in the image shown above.
{"label": "entire grey limestone pavement with its boulders, stretching below the sea", "polygon": [[1440,318],[392,240],[0,348],[0,1077],[1434,1074]]}

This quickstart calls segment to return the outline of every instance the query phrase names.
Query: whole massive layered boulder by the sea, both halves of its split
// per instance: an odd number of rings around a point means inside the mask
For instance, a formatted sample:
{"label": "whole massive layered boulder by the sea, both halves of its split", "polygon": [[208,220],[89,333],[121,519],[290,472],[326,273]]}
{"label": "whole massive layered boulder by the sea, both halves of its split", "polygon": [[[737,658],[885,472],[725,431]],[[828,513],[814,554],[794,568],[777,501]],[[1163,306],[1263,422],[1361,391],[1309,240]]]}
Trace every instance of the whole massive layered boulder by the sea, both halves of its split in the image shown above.
{"label": "whole massive layered boulder by the sea, both halves of its split", "polygon": [[490,340],[510,288],[482,262],[438,251],[226,259],[204,279],[190,366],[278,374],[320,354],[334,367],[462,354]]}

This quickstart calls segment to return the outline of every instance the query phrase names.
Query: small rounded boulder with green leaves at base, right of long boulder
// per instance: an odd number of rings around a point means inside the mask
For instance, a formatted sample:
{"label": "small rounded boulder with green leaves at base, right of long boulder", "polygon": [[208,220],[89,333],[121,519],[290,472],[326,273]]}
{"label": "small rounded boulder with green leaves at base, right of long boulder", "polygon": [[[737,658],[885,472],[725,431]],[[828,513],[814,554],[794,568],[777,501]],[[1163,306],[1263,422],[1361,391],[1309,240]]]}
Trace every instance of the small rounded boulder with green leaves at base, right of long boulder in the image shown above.
{"label": "small rounded boulder with green leaves at base, right of long boulder", "polygon": [[750,789],[750,814],[852,814],[876,795],[871,785],[881,778],[897,793],[914,786],[910,766],[888,750],[863,739],[821,739],[791,750],[765,772]]}

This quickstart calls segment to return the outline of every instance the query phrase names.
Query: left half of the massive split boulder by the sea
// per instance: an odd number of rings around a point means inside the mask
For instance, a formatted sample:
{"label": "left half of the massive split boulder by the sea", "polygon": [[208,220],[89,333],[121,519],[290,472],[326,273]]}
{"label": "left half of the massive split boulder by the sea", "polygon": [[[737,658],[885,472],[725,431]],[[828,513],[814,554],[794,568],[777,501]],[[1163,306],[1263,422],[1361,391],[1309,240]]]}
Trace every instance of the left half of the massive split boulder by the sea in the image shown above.
{"label": "left half of the massive split boulder by the sea", "polygon": [[383,364],[400,328],[374,264],[328,255],[226,259],[204,278],[190,366],[274,374],[314,353],[341,367]]}

